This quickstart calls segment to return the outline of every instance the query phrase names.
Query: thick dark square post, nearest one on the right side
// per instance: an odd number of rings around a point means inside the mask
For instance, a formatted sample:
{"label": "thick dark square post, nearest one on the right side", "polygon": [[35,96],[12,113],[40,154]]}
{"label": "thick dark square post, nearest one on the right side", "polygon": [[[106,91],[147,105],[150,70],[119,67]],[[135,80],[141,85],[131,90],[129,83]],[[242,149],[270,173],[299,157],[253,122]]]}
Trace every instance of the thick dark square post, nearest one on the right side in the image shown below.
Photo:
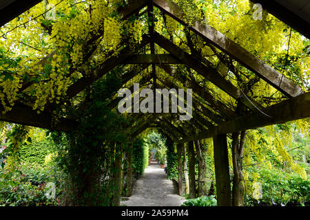
{"label": "thick dark square post, nearest one on the right side", "polygon": [[213,145],[214,165],[216,173],[216,199],[218,200],[218,206],[231,206],[231,189],[226,134],[214,136]]}

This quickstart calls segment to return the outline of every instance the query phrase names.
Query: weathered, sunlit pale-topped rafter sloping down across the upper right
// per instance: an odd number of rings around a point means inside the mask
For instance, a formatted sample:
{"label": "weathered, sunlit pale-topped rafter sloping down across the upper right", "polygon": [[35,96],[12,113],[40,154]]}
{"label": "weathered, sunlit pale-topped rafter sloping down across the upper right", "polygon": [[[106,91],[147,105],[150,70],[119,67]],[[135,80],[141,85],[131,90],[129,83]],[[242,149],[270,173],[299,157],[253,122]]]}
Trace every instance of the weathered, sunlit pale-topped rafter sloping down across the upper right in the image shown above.
{"label": "weathered, sunlit pale-topped rafter sloping down across the upper right", "polygon": [[[182,8],[174,3],[172,0],[154,0],[154,5],[166,14],[176,19],[176,21],[183,25],[188,25],[183,21],[185,14]],[[265,80],[267,83],[281,91],[288,97],[295,97],[302,91],[298,85],[295,85],[289,78],[282,76],[275,69],[261,61],[257,56],[254,56],[245,48],[241,47],[234,41],[228,39],[224,34],[218,32],[214,28],[205,25],[204,23],[196,20],[194,25],[189,25],[189,30],[201,36],[205,41],[212,43],[223,52],[234,57],[236,61],[239,61],[254,72],[257,76]]]}

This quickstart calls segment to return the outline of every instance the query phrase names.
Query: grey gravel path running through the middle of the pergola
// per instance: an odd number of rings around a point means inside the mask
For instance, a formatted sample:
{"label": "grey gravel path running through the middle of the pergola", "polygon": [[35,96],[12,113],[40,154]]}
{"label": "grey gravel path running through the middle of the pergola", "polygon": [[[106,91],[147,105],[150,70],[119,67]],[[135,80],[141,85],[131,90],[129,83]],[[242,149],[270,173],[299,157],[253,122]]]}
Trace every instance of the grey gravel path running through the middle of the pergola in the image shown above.
{"label": "grey gravel path running through the middle of the pergola", "polygon": [[185,199],[176,194],[165,170],[156,162],[147,166],[144,174],[136,181],[132,196],[122,201],[126,206],[180,206]]}

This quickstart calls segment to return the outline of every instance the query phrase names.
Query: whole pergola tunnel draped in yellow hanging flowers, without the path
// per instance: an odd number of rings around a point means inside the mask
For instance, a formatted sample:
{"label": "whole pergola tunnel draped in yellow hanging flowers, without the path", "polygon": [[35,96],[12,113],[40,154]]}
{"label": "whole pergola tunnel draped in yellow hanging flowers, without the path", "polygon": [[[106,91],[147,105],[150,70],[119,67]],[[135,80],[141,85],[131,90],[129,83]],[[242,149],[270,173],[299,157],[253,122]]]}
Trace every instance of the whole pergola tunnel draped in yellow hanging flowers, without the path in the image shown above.
{"label": "whole pergola tunnel draped in yellow hanging flowers, without the path", "polygon": [[309,206],[309,23],[249,0],[0,12],[0,206],[121,206],[155,160],[183,206]]}

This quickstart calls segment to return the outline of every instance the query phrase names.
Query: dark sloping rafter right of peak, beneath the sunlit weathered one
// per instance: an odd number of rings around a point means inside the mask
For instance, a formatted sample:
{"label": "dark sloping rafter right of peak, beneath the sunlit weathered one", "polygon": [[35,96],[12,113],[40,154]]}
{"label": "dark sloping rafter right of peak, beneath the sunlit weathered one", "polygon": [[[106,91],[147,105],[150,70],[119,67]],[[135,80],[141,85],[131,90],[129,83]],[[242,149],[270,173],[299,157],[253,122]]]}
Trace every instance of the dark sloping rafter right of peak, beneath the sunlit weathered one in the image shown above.
{"label": "dark sloping rafter right of peak, beneath the sunlit weathered one", "polygon": [[256,107],[260,107],[260,104],[254,100],[241,96],[239,89],[229,81],[225,80],[225,78],[223,78],[223,76],[221,76],[216,71],[216,69],[203,65],[203,63],[194,58],[194,56],[184,52],[180,47],[166,39],[164,36],[161,36],[161,34],[155,32],[154,36],[155,43],[163,47],[163,49],[167,50],[167,52],[175,56],[175,58],[179,58],[180,61],[183,61],[186,65],[194,69],[198,74],[201,74],[203,77],[210,80],[211,83],[214,83],[214,85],[225,91],[227,94],[229,94],[229,96],[240,100],[242,104],[245,104],[246,107],[253,111],[257,111]]}

